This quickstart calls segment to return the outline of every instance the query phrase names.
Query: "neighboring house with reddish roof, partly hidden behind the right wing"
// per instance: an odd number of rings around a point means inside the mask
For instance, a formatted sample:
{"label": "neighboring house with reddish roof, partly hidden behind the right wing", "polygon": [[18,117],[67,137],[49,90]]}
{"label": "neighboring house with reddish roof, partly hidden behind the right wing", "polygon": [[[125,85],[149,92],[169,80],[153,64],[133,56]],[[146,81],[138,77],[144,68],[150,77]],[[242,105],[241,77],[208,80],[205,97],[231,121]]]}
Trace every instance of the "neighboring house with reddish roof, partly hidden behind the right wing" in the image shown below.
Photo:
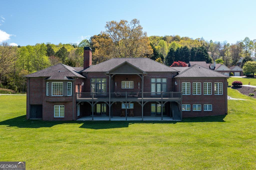
{"label": "neighboring house with reddish roof, partly hidden behind the right wing", "polygon": [[226,76],[229,76],[231,70],[225,66],[224,64],[216,64],[216,62],[214,63],[206,63],[206,62],[189,62],[188,63],[188,67],[190,66],[193,66],[193,65],[199,65],[199,66],[202,66],[202,67],[205,67],[205,68],[208,68],[208,69],[211,69],[211,70],[214,70],[214,71],[217,71],[217,72],[220,72]]}

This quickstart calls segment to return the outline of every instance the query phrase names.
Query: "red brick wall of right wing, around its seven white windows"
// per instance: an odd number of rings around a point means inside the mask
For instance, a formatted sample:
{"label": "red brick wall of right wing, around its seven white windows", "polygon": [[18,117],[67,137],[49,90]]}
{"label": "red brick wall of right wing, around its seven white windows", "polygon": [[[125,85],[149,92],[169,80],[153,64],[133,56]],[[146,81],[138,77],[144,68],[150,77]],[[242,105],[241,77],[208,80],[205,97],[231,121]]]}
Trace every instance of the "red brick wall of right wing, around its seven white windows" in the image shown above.
{"label": "red brick wall of right wing, around its seven white windows", "polygon": [[[227,79],[226,78],[176,78],[177,82],[175,91],[182,91],[182,82],[190,82],[190,95],[182,95],[182,104],[190,104],[190,111],[183,111],[182,117],[196,117],[196,116],[213,116],[224,115],[227,113]],[[193,82],[201,82],[201,95],[193,95]],[[204,82],[212,83],[212,94],[204,95]],[[222,82],[223,95],[214,95],[214,82]],[[226,87],[225,87],[226,82]],[[201,111],[193,111],[193,104],[201,104]],[[212,104],[212,111],[204,111],[204,104]]]}

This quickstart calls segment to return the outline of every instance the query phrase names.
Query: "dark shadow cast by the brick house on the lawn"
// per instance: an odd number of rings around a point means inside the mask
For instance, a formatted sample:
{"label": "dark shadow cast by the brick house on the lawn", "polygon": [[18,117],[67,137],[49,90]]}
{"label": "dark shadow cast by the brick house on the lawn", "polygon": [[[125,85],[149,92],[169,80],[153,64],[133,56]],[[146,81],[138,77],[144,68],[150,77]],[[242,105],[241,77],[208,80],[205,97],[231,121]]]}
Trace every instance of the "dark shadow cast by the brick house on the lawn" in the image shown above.
{"label": "dark shadow cast by the brick house on the lawn", "polygon": [[18,128],[42,128],[60,124],[82,124],[79,128],[86,129],[112,129],[129,127],[131,124],[176,124],[192,122],[225,122],[226,115],[184,118],[183,121],[44,121],[27,120],[26,115],[11,118],[0,122],[0,125]]}

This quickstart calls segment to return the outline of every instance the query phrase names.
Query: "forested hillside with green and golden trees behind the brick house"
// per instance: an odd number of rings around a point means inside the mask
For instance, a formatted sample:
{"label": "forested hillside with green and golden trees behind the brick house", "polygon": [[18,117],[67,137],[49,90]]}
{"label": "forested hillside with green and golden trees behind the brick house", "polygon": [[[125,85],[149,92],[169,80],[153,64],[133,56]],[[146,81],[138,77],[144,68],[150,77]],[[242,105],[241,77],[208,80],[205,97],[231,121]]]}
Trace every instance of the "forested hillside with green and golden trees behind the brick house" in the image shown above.
{"label": "forested hillside with green and golden trees behind the brick house", "polygon": [[[25,92],[24,75],[63,63],[72,67],[83,65],[83,47],[93,51],[93,65],[113,57],[148,57],[167,66],[174,61],[217,60],[227,66],[235,65],[239,57],[256,57],[256,40],[246,37],[230,44],[192,39],[179,35],[147,36],[139,20],[110,21],[105,31],[79,44],[38,43],[27,46],[0,46],[0,87]],[[222,61],[223,60],[223,61]]]}

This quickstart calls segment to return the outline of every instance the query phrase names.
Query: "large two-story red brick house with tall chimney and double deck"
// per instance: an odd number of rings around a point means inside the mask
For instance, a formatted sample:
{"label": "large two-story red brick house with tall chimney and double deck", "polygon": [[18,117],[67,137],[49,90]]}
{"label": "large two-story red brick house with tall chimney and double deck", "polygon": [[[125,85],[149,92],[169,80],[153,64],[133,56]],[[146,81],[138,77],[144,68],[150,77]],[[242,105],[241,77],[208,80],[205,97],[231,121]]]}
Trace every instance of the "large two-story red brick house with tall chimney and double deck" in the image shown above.
{"label": "large two-story red brick house with tall chimney and double deck", "polygon": [[83,67],[57,64],[25,77],[27,119],[227,114],[229,76],[197,64],[168,67],[149,58],[112,58],[93,66],[91,48],[84,47]]}

